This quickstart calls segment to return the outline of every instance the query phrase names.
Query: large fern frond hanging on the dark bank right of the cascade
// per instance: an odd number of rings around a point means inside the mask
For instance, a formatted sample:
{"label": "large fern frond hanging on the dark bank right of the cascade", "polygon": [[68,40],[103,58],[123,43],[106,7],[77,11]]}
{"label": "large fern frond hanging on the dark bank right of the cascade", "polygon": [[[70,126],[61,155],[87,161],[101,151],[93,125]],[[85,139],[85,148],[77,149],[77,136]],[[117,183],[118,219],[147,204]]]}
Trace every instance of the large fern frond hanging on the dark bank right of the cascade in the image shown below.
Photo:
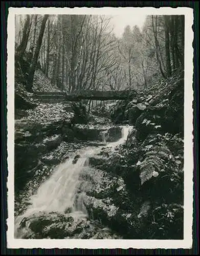
{"label": "large fern frond hanging on the dark bank right of the cascade", "polygon": [[164,162],[169,159],[171,152],[167,146],[155,146],[145,154],[144,160],[140,164],[141,185],[153,176],[157,177],[164,168]]}

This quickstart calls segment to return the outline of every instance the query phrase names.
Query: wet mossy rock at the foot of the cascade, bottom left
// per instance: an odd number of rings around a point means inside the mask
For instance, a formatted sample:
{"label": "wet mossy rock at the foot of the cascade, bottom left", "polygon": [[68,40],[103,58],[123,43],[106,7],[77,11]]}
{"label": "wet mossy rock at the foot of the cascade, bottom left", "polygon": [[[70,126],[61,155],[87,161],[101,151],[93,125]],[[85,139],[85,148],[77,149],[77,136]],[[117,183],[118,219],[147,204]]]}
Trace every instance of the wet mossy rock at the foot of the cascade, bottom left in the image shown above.
{"label": "wet mossy rock at the foot of the cascade, bottom left", "polygon": [[24,218],[23,239],[119,239],[117,234],[103,226],[98,220],[77,220],[57,212],[40,212]]}

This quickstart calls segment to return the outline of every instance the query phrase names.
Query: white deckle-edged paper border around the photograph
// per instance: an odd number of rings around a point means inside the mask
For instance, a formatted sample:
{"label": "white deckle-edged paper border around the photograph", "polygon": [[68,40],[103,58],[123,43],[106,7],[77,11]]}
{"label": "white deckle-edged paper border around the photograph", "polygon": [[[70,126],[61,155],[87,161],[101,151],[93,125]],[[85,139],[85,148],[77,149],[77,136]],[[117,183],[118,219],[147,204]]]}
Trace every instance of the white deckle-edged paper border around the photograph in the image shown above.
{"label": "white deckle-edged paper border around the photograph", "polygon": [[[14,41],[15,14],[93,14],[93,15],[185,15],[185,104],[184,104],[184,239],[183,240],[58,240],[14,239]],[[7,40],[8,100],[8,248],[191,248],[193,214],[193,9],[178,7],[103,7],[103,8],[9,8]]]}

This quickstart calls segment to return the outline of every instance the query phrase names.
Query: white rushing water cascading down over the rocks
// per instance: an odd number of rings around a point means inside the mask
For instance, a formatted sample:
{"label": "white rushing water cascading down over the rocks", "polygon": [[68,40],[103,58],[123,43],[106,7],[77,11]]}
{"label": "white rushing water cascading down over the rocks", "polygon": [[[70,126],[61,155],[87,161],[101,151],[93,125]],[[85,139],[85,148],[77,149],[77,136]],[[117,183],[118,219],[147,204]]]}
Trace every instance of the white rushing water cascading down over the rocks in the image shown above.
{"label": "white rushing water cascading down over the rocks", "polygon": [[[131,126],[123,126],[122,138],[117,142],[107,143],[106,147],[115,148],[117,145],[124,143],[130,129]],[[24,217],[29,217],[41,211],[56,211],[64,214],[66,209],[70,209],[70,215],[74,219],[85,219],[87,211],[82,200],[84,194],[79,194],[78,199],[75,200],[80,185],[79,175],[83,168],[88,166],[89,157],[97,154],[101,148],[89,147],[77,152],[76,155],[80,155],[80,158],[75,164],[73,164],[74,157],[59,164],[52,176],[42,183],[37,193],[30,198],[31,205],[26,212],[16,218],[16,229],[20,226],[20,221]]]}

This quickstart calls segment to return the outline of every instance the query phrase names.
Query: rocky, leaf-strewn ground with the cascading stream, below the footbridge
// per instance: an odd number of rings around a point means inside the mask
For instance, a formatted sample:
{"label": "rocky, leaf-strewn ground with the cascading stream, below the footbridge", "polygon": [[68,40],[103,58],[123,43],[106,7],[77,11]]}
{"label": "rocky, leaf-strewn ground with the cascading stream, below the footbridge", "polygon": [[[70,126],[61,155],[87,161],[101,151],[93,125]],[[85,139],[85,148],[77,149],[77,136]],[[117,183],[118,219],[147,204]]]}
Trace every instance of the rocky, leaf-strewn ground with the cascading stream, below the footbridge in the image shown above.
{"label": "rocky, leaf-strewn ground with the cascading stream, below the footbridge", "polygon": [[15,238],[182,239],[180,88],[87,124],[64,104],[16,113]]}

